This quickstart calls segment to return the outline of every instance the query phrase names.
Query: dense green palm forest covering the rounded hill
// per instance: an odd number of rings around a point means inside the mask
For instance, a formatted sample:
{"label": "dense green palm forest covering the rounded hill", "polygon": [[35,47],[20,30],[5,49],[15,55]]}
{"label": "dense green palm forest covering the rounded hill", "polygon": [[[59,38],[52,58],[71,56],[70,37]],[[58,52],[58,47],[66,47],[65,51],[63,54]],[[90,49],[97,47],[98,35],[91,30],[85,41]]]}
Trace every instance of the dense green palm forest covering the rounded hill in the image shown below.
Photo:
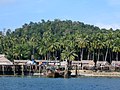
{"label": "dense green palm forest covering the rounded hill", "polygon": [[9,60],[120,60],[120,29],[71,20],[30,22],[0,32],[0,54]]}

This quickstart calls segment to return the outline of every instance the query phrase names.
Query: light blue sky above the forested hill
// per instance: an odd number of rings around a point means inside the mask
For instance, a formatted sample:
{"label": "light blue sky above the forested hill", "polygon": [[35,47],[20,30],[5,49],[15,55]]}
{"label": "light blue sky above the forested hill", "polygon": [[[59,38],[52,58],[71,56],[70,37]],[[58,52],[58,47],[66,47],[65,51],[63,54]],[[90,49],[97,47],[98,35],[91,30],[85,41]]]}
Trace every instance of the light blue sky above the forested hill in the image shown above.
{"label": "light blue sky above the forested hill", "polygon": [[0,31],[41,19],[120,29],[120,0],[0,0]]}

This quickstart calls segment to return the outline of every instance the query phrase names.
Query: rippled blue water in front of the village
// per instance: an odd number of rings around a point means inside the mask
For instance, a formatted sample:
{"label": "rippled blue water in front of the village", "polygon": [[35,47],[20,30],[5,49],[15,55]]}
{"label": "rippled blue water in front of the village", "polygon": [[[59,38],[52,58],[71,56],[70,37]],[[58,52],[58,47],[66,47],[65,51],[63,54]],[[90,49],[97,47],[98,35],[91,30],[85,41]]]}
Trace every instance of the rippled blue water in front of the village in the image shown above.
{"label": "rippled blue water in front of the village", "polygon": [[0,90],[120,90],[120,78],[0,77]]}

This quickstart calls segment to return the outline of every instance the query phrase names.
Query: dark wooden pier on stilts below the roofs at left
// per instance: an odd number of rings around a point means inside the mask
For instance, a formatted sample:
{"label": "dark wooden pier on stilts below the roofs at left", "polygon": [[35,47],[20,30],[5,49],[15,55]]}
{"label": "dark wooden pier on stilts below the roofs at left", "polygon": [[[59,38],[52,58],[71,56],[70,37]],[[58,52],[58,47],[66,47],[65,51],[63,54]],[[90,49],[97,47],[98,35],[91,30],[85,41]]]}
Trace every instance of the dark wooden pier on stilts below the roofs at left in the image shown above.
{"label": "dark wooden pier on stilts below the roofs at left", "polygon": [[0,65],[0,75],[33,75],[38,73],[41,75],[45,70],[40,65]]}

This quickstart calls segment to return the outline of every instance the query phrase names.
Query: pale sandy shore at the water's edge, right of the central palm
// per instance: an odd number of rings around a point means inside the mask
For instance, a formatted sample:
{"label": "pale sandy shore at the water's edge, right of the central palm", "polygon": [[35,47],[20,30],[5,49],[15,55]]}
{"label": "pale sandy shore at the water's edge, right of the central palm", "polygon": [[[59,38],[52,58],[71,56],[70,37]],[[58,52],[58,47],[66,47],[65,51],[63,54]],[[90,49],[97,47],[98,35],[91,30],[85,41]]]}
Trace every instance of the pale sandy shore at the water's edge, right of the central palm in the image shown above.
{"label": "pale sandy shore at the water's edge, right of the central palm", "polygon": [[[72,75],[75,75],[75,70],[72,70]],[[92,70],[78,70],[78,76],[92,76],[92,77],[120,77],[120,72],[94,72]]]}

